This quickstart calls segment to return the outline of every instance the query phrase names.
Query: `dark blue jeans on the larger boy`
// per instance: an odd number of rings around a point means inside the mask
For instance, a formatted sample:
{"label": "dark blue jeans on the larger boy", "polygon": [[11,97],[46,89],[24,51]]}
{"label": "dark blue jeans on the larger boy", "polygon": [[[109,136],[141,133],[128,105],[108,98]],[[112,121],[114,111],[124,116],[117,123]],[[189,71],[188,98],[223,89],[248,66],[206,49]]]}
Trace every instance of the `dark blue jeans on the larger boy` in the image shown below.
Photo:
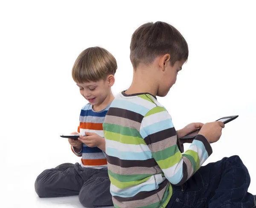
{"label": "dark blue jeans on the larger boy", "polygon": [[173,185],[166,208],[252,208],[250,175],[238,156],[199,168],[182,186]]}

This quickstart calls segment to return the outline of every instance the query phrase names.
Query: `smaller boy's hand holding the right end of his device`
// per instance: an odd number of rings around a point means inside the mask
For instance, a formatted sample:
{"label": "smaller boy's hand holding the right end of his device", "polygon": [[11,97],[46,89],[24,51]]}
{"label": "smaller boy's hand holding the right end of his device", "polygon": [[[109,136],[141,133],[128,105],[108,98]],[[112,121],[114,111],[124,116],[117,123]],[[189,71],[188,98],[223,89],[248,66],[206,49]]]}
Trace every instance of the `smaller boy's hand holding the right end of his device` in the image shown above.
{"label": "smaller boy's hand holding the right end of his device", "polygon": [[88,147],[98,147],[105,151],[105,139],[96,133],[84,132],[87,136],[80,136],[79,141],[83,142]]}

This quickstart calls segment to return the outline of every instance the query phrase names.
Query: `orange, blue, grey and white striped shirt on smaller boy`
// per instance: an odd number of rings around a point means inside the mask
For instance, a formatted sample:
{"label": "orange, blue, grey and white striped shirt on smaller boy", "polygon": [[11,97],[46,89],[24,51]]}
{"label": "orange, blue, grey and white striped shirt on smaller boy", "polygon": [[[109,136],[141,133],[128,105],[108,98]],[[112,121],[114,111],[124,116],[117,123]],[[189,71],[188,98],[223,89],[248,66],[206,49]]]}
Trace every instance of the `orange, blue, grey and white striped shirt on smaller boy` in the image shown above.
{"label": "orange, blue, grey and white striped shirt on smaller boy", "polygon": [[[83,135],[84,132],[93,132],[104,137],[102,123],[105,120],[109,105],[102,111],[94,111],[93,106],[88,103],[81,109],[80,124],[78,132]],[[74,154],[81,158],[81,166],[89,168],[107,167],[107,159],[104,152],[98,147],[88,147],[83,144],[81,151],[76,153],[73,146],[71,149]]]}

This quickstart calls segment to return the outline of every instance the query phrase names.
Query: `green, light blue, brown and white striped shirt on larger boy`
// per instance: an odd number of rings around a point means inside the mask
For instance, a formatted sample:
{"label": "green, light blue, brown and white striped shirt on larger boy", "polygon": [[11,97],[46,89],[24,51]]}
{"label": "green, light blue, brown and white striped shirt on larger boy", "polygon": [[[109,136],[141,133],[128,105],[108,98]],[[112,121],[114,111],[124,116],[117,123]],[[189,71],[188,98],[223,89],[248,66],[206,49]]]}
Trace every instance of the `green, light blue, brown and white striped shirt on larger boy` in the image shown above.
{"label": "green, light blue, brown and white striped shirt on larger boy", "polygon": [[212,154],[202,135],[181,154],[172,118],[151,94],[113,100],[103,123],[115,208],[164,208]]}

